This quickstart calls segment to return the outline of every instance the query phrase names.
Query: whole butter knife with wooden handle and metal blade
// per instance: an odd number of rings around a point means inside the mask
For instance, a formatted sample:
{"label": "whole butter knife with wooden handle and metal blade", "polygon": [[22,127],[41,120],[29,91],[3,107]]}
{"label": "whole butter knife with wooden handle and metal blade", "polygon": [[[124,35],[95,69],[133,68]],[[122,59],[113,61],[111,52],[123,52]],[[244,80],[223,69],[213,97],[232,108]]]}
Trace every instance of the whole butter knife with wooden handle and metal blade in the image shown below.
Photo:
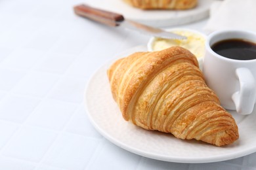
{"label": "whole butter knife with wooden handle and metal blade", "polygon": [[121,26],[133,31],[139,31],[139,33],[145,33],[154,37],[161,37],[163,39],[186,39],[184,36],[167,32],[160,28],[140,24],[139,22],[125,19],[121,14],[102,9],[96,9],[90,7],[89,5],[77,5],[74,7],[74,12],[78,16],[100,22],[101,24],[110,25],[112,27]]}

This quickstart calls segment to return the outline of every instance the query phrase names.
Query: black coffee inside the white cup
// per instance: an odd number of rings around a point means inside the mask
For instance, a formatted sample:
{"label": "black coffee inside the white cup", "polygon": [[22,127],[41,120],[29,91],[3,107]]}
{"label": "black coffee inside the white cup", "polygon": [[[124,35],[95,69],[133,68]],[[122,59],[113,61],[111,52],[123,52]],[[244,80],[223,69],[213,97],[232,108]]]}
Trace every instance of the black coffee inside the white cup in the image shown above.
{"label": "black coffee inside the white cup", "polygon": [[256,59],[256,44],[242,39],[227,39],[211,46],[214,52],[230,59]]}

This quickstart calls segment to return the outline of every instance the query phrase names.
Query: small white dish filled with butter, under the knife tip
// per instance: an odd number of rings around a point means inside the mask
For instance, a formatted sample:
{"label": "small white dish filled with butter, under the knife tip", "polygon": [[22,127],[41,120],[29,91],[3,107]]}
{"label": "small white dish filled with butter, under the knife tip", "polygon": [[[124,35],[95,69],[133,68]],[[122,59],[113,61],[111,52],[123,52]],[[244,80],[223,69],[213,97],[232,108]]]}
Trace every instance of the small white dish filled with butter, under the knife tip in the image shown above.
{"label": "small white dish filled with butter, under the knife tip", "polygon": [[205,54],[206,35],[194,29],[186,29],[186,28],[178,28],[178,27],[173,29],[166,29],[166,31],[170,31],[173,33],[177,33],[179,35],[186,36],[187,39],[175,40],[175,39],[161,39],[158,37],[151,37],[147,44],[148,51],[152,52],[152,51],[163,50],[171,46],[181,46],[183,48],[190,50],[190,52],[192,52],[196,56],[196,58],[198,59],[198,63],[200,65],[200,69],[202,69],[203,57]]}

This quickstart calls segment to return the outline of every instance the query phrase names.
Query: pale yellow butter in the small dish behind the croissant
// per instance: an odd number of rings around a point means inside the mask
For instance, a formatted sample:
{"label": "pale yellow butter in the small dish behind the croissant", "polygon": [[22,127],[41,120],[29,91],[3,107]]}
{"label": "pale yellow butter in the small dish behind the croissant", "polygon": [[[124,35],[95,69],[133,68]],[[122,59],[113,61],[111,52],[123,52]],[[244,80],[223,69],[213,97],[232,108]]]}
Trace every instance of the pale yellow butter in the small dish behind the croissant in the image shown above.
{"label": "pale yellow butter in the small dish behind the croissant", "polygon": [[190,52],[192,52],[196,56],[196,58],[203,58],[205,54],[205,37],[203,35],[188,30],[171,32],[186,36],[187,39],[177,40],[156,38],[155,41],[152,43],[152,50],[158,51],[169,48],[171,46],[181,46],[183,48],[186,48],[187,50],[190,50]]}

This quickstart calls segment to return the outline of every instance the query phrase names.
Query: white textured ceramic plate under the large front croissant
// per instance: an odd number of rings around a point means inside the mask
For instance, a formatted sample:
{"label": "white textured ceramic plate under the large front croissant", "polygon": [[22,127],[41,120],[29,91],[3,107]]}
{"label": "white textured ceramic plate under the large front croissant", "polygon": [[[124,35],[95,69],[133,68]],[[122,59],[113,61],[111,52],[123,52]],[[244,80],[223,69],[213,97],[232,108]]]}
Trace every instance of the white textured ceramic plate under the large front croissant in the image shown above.
{"label": "white textured ceramic plate under the large front croissant", "polygon": [[[119,54],[117,58],[145,50],[146,46],[137,46]],[[116,58],[110,63],[114,60]],[[224,147],[177,139],[171,134],[148,131],[126,122],[110,92],[106,76],[110,63],[100,67],[89,80],[85,106],[93,126],[112,143],[140,156],[181,163],[230,160],[256,152],[256,110],[249,116],[232,113],[239,127],[240,139]]]}

